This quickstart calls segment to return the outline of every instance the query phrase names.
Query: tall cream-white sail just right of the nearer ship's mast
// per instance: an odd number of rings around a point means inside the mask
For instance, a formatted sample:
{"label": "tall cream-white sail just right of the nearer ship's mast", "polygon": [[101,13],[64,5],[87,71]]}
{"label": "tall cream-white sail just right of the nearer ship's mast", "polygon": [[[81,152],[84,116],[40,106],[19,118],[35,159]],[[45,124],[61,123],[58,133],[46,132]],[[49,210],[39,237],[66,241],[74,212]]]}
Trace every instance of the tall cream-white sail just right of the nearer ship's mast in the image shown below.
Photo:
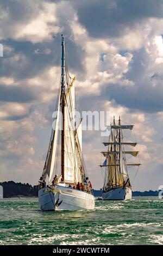
{"label": "tall cream-white sail just right of the nearer ship's mast", "polygon": [[65,182],[74,183],[74,86],[66,97],[65,106]]}

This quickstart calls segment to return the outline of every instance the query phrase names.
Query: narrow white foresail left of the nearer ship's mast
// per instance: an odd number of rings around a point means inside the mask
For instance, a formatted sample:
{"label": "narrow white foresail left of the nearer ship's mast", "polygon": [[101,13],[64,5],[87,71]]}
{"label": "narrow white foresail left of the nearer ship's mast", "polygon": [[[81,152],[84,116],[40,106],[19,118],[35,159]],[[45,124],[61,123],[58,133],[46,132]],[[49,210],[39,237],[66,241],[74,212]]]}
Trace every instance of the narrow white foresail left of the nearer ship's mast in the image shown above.
{"label": "narrow white foresail left of the nearer ship's mast", "polygon": [[57,149],[57,138],[58,138],[58,130],[59,130],[59,114],[60,114],[60,93],[61,92],[59,92],[59,98],[58,98],[57,117],[55,119],[55,124],[53,126],[53,127],[55,127],[55,129],[54,129],[53,147],[51,149],[52,150],[51,167],[50,167],[50,172],[48,174],[49,180],[51,180],[51,178],[52,178],[53,169],[54,169],[54,161],[55,161],[55,153],[56,153],[56,149]]}

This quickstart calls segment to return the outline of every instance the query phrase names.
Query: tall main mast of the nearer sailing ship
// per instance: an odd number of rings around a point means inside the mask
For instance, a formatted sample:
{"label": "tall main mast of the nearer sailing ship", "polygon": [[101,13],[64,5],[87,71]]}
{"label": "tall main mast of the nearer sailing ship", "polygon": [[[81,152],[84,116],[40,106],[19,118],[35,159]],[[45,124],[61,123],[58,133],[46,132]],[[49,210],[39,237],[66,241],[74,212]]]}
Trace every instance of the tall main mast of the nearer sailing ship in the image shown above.
{"label": "tall main mast of the nearer sailing ship", "polygon": [[61,175],[64,181],[65,173],[65,41],[61,35],[61,111],[62,111],[62,132],[61,132]]}

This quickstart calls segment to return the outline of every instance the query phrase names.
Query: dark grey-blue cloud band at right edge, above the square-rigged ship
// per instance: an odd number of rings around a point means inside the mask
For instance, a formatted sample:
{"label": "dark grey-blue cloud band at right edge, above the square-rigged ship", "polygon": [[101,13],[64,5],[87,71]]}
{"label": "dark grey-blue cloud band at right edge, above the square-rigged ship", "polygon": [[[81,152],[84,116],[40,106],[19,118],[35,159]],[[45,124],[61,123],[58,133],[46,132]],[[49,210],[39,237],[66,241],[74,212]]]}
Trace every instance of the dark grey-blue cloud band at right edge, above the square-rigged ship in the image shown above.
{"label": "dark grey-blue cloud band at right edge, above the square-rigged ship", "polygon": [[[150,84],[150,81],[147,81],[147,83]],[[114,99],[117,104],[132,110],[148,113],[163,111],[162,89],[159,88],[154,92],[152,85],[149,84],[140,84],[140,90],[136,86],[109,85],[103,91],[104,99]]]}

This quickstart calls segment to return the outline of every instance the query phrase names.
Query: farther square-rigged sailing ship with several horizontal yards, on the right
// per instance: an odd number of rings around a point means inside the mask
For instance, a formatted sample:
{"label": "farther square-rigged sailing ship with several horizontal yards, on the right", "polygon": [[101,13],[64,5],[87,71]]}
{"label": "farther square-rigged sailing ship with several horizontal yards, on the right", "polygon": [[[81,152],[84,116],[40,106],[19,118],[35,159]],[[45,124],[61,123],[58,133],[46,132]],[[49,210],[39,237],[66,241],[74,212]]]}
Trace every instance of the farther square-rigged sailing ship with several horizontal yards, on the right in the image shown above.
{"label": "farther square-rigged sailing ship with several horizontal yards, on the right", "polygon": [[104,168],[103,200],[131,199],[132,191],[127,166],[140,166],[140,163],[127,163],[126,154],[137,156],[139,151],[126,151],[125,146],[135,147],[137,143],[123,142],[122,130],[133,130],[133,125],[122,125],[119,118],[116,124],[115,117],[111,124],[109,142],[104,142],[108,150],[102,152],[105,161]]}

